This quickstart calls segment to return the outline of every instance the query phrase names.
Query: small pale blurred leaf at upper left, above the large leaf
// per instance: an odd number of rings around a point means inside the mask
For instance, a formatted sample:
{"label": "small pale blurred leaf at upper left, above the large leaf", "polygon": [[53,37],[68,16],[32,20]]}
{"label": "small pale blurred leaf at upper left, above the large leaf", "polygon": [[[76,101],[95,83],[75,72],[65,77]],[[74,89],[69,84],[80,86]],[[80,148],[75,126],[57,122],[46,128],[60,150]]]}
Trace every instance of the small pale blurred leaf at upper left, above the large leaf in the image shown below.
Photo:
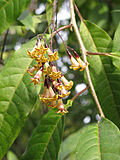
{"label": "small pale blurred leaf at upper left, above the large leaf", "polygon": [[29,28],[32,32],[35,32],[33,26],[32,15],[28,10],[25,10],[20,17],[17,18],[26,28]]}

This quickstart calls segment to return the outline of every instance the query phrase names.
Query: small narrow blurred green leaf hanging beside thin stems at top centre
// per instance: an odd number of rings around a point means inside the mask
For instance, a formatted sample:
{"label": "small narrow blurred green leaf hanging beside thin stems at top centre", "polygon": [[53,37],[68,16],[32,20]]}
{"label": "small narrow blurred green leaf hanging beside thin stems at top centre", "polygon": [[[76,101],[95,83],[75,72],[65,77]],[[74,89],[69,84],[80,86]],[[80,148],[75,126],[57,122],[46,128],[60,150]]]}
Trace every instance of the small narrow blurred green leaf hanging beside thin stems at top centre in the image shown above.
{"label": "small narrow blurred green leaf hanging beside thin stems at top centre", "polygon": [[[52,6],[51,3],[47,3],[47,5],[46,5],[46,17],[47,17],[48,25],[51,24],[52,16],[53,16],[53,6]],[[49,33],[51,33],[51,27],[49,27]]]}

